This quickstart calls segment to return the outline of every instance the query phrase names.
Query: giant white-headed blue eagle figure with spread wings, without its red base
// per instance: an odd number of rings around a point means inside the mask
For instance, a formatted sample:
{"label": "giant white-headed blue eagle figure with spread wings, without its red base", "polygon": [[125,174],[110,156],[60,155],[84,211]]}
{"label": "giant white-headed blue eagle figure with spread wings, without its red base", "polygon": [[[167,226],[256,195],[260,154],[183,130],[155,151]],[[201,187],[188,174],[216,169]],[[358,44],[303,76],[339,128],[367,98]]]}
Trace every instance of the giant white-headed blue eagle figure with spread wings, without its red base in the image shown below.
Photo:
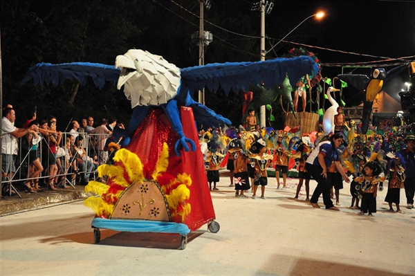
{"label": "giant white-headed blue eagle figure with spread wings, without its red base", "polygon": [[176,155],[180,156],[181,147],[185,151],[194,151],[196,146],[193,140],[183,134],[179,106],[192,107],[194,119],[199,125],[232,124],[227,118],[194,101],[192,95],[196,91],[207,87],[215,93],[220,86],[228,95],[231,89],[246,90],[250,85],[256,84],[262,84],[266,89],[274,89],[282,84],[286,77],[294,86],[304,75],[317,72],[318,65],[308,56],[177,68],[174,64],[166,62],[163,57],[134,49],[124,55],[118,55],[115,67],[86,62],[36,64],[28,70],[22,83],[33,80],[35,85],[57,86],[65,80],[75,79],[84,85],[87,77],[91,77],[95,86],[102,89],[105,82],[118,82],[118,89],[124,90],[133,108],[129,134],[136,130],[151,108],[162,108],[172,129],[178,135],[174,148]]}

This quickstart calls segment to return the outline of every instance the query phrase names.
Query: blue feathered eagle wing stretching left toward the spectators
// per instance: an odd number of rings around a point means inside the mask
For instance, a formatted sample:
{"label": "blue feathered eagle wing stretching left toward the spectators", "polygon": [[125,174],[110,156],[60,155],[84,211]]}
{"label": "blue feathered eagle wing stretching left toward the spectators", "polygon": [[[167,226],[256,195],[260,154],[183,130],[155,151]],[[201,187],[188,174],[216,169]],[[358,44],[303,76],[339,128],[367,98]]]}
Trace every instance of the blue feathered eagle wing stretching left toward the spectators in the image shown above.
{"label": "blue feathered eagle wing stretching left toward the spectators", "polygon": [[65,80],[78,80],[80,84],[85,85],[86,80],[91,77],[93,83],[98,89],[104,87],[105,82],[111,82],[115,85],[120,77],[120,69],[113,65],[90,63],[90,62],[72,62],[64,64],[39,63],[28,70],[22,84],[33,80],[35,85],[39,84],[42,88],[44,84],[63,84]]}

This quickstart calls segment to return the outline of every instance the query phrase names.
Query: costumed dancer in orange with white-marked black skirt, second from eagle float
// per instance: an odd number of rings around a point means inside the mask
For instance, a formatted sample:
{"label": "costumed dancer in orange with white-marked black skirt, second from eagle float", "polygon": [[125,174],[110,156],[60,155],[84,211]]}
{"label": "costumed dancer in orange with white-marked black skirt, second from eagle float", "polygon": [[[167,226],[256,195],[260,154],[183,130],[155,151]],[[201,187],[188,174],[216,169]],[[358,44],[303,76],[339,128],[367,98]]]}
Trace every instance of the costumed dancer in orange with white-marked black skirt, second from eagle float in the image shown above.
{"label": "costumed dancer in orange with white-marked black skirt, second from eagle float", "polygon": [[[249,190],[248,178],[248,156],[242,151],[242,143],[240,139],[232,139],[228,145],[228,151],[233,158],[233,181],[235,186],[236,197],[248,197],[243,192]],[[240,192],[240,194],[239,194]]]}

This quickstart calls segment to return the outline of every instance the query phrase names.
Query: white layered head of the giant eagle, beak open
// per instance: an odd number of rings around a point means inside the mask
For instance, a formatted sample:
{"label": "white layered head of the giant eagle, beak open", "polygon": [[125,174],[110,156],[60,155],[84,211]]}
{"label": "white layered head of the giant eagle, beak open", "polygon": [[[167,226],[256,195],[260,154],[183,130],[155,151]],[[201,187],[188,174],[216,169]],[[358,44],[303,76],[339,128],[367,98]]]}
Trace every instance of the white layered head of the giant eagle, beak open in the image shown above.
{"label": "white layered head of the giant eagle, beak open", "polygon": [[177,95],[180,71],[160,55],[132,49],[116,57],[116,68],[121,70],[117,88],[124,85],[131,108],[165,104]]}

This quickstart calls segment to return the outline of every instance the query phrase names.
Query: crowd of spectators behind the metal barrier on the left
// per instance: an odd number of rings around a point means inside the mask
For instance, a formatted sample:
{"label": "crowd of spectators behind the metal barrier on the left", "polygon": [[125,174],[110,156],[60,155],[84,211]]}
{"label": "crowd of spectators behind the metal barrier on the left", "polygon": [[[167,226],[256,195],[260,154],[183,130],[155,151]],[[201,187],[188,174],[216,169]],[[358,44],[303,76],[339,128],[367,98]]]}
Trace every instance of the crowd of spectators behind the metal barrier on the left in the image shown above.
{"label": "crowd of spectators behind the metal barrier on the left", "polygon": [[[2,197],[86,185],[96,177],[98,165],[107,163],[104,145],[117,126],[116,118],[102,118],[94,127],[89,116],[82,125],[72,120],[68,129],[57,131],[55,116],[39,121],[35,111],[26,114],[21,127],[15,120],[15,110],[7,104],[1,121]],[[118,127],[124,128],[122,123]]]}

